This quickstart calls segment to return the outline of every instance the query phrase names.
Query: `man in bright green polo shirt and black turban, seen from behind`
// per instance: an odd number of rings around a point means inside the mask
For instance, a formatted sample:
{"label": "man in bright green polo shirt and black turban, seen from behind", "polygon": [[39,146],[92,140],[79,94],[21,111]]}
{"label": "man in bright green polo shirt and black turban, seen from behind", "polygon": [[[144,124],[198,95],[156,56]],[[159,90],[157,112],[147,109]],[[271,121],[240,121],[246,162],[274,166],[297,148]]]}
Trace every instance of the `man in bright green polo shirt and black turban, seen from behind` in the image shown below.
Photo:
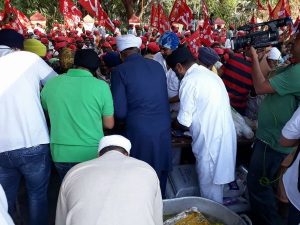
{"label": "man in bright green polo shirt and black turban, seen from behind", "polygon": [[99,66],[96,52],[77,51],[74,65],[75,69],[49,80],[41,93],[50,118],[52,159],[62,179],[75,164],[97,157],[103,126],[114,126],[110,88],[93,76]]}

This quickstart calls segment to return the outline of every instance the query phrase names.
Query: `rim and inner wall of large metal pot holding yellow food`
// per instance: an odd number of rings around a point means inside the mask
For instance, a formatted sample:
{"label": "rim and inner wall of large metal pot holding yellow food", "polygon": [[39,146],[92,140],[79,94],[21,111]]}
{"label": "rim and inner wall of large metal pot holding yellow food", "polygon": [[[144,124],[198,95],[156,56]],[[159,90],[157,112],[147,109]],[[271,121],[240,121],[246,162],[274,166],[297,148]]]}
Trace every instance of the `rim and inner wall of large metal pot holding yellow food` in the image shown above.
{"label": "rim and inner wall of large metal pot holding yellow food", "polygon": [[247,225],[236,213],[214,201],[200,197],[183,197],[163,201],[164,215],[178,214],[191,207],[212,216],[227,225]]}

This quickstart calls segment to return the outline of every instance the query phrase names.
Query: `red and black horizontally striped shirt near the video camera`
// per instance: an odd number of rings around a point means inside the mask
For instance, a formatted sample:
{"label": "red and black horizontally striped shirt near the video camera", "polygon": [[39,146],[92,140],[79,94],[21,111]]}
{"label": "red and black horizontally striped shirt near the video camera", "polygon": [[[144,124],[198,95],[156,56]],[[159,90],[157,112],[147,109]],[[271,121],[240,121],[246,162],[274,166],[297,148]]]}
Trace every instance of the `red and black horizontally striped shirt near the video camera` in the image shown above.
{"label": "red and black horizontally striped shirt near the video camera", "polygon": [[253,90],[252,63],[242,54],[230,56],[223,66],[222,79],[230,98],[230,104],[239,113],[244,115],[248,96]]}

